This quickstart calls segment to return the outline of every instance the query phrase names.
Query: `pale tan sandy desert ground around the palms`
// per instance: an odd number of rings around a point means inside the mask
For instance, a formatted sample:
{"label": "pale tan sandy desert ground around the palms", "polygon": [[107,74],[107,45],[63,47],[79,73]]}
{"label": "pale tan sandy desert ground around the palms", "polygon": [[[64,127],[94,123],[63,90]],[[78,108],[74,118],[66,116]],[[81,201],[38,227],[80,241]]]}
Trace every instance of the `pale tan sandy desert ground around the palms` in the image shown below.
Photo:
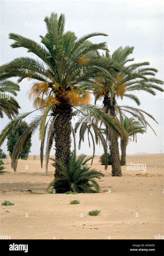
{"label": "pale tan sandy desert ground around the palms", "polygon": [[[4,160],[8,173],[0,176],[0,235],[11,239],[154,239],[163,229],[163,156],[128,155],[127,163],[146,164],[143,170],[126,170],[112,177],[94,158],[93,167],[105,174],[99,182],[99,194],[47,194],[54,168],[45,161],[19,160],[17,172],[10,157]],[[145,165],[144,165],[145,167]],[[27,169],[28,168],[28,169]],[[32,190],[32,191],[27,191]],[[70,200],[81,204],[71,205]],[[14,206],[2,206],[10,200]],[[101,210],[98,216],[88,212]]]}

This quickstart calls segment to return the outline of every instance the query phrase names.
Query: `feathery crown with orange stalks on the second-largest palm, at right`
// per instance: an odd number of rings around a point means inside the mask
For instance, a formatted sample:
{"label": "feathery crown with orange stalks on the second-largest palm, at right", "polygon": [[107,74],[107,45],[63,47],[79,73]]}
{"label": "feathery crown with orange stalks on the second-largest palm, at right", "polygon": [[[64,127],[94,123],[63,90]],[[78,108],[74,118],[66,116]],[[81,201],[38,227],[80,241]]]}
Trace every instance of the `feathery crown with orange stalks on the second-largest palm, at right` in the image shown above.
{"label": "feathery crown with orange stalks on the second-largest palm, at right", "polygon": [[99,78],[95,81],[94,94],[95,99],[102,96],[108,96],[113,104],[116,97],[128,97],[134,100],[137,105],[140,105],[138,97],[133,94],[135,91],[145,91],[155,95],[154,90],[163,92],[163,88],[159,85],[163,81],[155,78],[157,69],[149,67],[149,62],[132,63],[134,58],[129,58],[133,53],[134,47],[126,46],[125,48],[119,47],[112,55],[106,52],[106,58],[111,62],[120,62],[122,64],[121,72],[115,72],[115,80]]}

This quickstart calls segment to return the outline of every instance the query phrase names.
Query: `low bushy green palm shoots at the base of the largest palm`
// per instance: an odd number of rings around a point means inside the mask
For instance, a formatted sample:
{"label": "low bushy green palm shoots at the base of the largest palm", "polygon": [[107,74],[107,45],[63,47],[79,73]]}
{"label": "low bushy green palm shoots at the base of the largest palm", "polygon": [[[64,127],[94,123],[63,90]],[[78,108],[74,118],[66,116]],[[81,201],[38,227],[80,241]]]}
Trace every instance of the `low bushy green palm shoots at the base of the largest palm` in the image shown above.
{"label": "low bushy green palm shoots at the base of the largest palm", "polygon": [[100,187],[95,179],[104,177],[104,174],[86,166],[86,163],[93,157],[94,156],[86,158],[86,155],[81,154],[76,159],[76,152],[72,151],[66,167],[57,160],[51,158],[51,160],[54,161],[52,165],[55,167],[55,163],[57,163],[61,167],[61,172],[59,176],[49,184],[47,191],[53,186],[56,193],[66,193],[68,191],[74,193],[99,192]]}

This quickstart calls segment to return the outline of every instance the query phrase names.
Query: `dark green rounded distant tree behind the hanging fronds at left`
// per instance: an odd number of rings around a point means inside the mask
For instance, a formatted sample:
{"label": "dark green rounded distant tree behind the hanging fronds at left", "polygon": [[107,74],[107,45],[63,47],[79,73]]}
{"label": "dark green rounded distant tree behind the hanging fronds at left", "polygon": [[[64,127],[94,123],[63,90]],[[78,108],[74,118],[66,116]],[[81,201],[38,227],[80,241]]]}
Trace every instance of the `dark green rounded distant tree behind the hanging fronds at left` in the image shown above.
{"label": "dark green rounded distant tree behind the hanging fronds at left", "polygon": [[[7,136],[7,150],[9,155],[12,157],[13,149],[18,142],[19,137],[24,133],[28,128],[28,124],[25,121],[20,122],[17,127]],[[19,159],[28,159],[28,154],[30,153],[31,148],[31,139],[26,142],[26,145],[20,150]]]}

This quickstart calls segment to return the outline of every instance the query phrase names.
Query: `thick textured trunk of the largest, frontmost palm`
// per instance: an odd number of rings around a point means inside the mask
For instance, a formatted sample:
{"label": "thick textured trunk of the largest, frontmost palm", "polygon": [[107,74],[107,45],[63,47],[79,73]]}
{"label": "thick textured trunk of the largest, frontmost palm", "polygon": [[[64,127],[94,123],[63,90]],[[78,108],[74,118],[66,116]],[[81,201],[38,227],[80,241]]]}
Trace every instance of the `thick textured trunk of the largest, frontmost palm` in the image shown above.
{"label": "thick textured trunk of the largest, frontmost palm", "polygon": [[[53,111],[53,116],[56,118],[54,123],[55,159],[65,166],[71,154],[72,108],[69,102],[60,99],[60,104]],[[58,177],[60,171],[61,167],[56,163],[55,178]]]}

